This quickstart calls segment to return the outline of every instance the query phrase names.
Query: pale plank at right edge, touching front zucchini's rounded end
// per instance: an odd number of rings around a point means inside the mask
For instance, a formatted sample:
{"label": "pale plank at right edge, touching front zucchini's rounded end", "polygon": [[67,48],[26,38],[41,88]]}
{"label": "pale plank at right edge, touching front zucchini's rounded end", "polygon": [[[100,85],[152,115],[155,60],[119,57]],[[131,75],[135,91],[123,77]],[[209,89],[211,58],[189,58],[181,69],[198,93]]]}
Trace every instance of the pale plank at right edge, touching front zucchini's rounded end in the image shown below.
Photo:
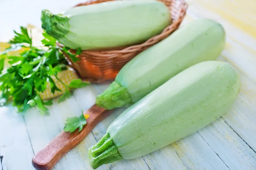
{"label": "pale plank at right edge, touching front zucchini's rounded end", "polygon": [[250,146],[256,150],[256,84],[238,71],[241,88],[239,96],[230,111],[225,114],[225,122]]}

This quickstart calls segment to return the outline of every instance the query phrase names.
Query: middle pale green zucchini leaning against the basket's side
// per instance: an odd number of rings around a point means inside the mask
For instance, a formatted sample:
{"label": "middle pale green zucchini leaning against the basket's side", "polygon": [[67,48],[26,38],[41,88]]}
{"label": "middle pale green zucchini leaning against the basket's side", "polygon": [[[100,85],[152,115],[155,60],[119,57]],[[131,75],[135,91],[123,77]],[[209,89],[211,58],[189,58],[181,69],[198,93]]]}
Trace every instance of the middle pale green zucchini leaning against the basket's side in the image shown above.
{"label": "middle pale green zucchini leaning against the basket's side", "polygon": [[225,44],[223,27],[212,20],[195,20],[138,54],[117,74],[96,104],[113,109],[134,103],[199,62],[215,60]]}

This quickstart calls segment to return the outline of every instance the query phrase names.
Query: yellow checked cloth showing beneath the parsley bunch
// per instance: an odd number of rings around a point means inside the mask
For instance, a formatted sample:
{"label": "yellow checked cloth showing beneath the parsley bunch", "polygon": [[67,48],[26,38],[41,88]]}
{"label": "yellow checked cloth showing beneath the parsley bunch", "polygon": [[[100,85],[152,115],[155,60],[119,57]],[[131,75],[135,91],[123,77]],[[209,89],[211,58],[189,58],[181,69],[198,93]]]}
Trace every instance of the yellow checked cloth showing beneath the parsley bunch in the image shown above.
{"label": "yellow checked cloth showing beneath the parsley bunch", "polygon": [[[42,36],[42,30],[39,28],[35,28],[34,26],[27,26],[28,30],[32,33],[32,43],[34,46],[43,46],[41,43],[41,40],[44,38]],[[6,48],[8,48],[10,45],[8,43],[0,42],[0,53],[5,51]],[[21,52],[26,50],[25,48],[21,48],[18,51],[11,51],[8,54],[12,56],[18,56]],[[7,61],[5,61],[5,68],[8,68],[10,65]],[[62,82],[64,82],[66,85],[69,85],[70,82],[74,79],[78,79],[78,75],[76,74],[76,71],[74,71],[72,68],[68,67],[67,70],[61,71],[58,73],[58,78],[61,79]],[[44,91],[44,93],[40,93],[40,96],[43,100],[52,99],[57,96],[60,96],[63,94],[66,90],[64,85],[61,84],[54,76],[52,76],[52,79],[54,80],[55,84],[61,91],[55,91],[54,94],[51,93],[50,84],[47,83],[47,89]]]}

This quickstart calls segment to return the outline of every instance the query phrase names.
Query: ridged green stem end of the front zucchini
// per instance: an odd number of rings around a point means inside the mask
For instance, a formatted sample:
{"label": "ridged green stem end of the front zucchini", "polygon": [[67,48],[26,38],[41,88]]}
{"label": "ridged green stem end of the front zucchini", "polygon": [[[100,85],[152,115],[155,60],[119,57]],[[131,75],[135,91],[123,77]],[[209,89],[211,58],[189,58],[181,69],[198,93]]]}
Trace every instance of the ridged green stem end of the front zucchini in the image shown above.
{"label": "ridged green stem end of the front zucchini", "polygon": [[93,169],[98,168],[103,164],[108,164],[122,159],[118,149],[109,134],[105,134],[97,144],[89,149],[90,166]]}

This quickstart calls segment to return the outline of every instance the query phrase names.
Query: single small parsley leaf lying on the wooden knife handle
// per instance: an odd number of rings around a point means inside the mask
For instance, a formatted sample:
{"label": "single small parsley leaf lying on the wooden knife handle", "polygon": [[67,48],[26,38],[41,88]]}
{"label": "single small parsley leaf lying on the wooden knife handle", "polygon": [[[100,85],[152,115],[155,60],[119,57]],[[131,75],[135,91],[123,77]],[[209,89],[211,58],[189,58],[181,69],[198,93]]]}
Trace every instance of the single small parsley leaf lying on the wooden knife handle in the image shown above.
{"label": "single small parsley leaf lying on the wooden knife handle", "polygon": [[82,113],[79,117],[69,117],[67,118],[67,123],[65,123],[64,131],[65,132],[74,132],[77,128],[79,128],[80,132],[84,125],[86,125],[86,119],[84,118],[84,114]]}

